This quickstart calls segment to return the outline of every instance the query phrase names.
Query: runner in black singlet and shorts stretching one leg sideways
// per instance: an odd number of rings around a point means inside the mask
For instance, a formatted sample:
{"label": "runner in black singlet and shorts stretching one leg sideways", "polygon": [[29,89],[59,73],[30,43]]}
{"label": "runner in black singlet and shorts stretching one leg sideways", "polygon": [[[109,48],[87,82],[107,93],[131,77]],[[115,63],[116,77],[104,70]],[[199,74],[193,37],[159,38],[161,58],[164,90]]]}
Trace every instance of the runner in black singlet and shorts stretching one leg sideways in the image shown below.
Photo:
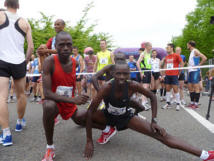
{"label": "runner in black singlet and shorts stretching one leg sideways", "polygon": [[[118,130],[130,128],[142,134],[153,137],[163,144],[188,152],[200,157],[202,160],[214,160],[214,151],[204,151],[179,140],[157,125],[157,98],[149,90],[143,88],[139,83],[128,81],[129,67],[127,64],[116,64],[114,70],[114,80],[106,83],[99,90],[97,96],[92,101],[86,122],[87,144],[85,147],[85,157],[90,159],[93,156],[92,123],[99,125],[116,126]],[[141,93],[150,98],[152,110],[151,123],[133,115],[129,110],[129,100],[134,93]],[[97,110],[100,102],[105,100],[106,108],[103,111]]]}

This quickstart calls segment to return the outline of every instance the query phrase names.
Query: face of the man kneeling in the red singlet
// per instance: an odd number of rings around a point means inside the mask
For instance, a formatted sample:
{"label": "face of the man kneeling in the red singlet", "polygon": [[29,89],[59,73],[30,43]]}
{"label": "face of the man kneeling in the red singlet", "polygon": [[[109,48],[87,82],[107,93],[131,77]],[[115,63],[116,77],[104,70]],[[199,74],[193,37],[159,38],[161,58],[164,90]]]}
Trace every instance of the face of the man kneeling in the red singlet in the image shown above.
{"label": "face of the man kneeling in the red singlet", "polygon": [[60,57],[69,57],[72,53],[72,39],[70,35],[58,36],[56,39],[56,49]]}

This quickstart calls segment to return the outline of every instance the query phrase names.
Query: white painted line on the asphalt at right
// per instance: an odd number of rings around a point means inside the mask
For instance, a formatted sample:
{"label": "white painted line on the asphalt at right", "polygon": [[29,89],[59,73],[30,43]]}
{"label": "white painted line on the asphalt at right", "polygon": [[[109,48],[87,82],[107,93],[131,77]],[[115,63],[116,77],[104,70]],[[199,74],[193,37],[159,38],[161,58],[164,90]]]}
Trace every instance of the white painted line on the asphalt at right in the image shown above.
{"label": "white painted line on the asphalt at right", "polygon": [[190,108],[183,107],[183,109],[187,111],[192,117],[194,117],[204,127],[206,127],[211,133],[214,133],[214,124],[212,124],[210,121],[206,120],[204,117],[202,117],[196,111]]}

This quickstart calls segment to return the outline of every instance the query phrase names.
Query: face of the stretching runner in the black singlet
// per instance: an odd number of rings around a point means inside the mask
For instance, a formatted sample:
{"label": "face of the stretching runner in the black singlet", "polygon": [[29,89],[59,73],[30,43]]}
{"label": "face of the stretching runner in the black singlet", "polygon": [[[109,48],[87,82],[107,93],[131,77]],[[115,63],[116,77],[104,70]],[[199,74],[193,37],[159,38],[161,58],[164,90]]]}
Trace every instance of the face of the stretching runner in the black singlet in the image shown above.
{"label": "face of the stretching runner in the black singlet", "polygon": [[114,78],[117,82],[117,85],[124,85],[125,82],[129,79],[130,71],[127,64],[116,65]]}

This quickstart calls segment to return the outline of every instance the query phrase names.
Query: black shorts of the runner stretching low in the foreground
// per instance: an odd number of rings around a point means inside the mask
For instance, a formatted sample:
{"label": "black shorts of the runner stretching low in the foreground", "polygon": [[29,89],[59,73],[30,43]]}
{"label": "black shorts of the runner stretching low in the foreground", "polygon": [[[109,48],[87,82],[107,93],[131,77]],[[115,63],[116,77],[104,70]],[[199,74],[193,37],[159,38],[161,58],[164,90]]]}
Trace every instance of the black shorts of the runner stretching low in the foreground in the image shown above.
{"label": "black shorts of the runner stretching low in the foreground", "polygon": [[129,121],[135,116],[131,110],[128,110],[125,114],[116,116],[110,114],[107,109],[103,110],[106,117],[107,125],[116,126],[118,131],[127,129]]}

